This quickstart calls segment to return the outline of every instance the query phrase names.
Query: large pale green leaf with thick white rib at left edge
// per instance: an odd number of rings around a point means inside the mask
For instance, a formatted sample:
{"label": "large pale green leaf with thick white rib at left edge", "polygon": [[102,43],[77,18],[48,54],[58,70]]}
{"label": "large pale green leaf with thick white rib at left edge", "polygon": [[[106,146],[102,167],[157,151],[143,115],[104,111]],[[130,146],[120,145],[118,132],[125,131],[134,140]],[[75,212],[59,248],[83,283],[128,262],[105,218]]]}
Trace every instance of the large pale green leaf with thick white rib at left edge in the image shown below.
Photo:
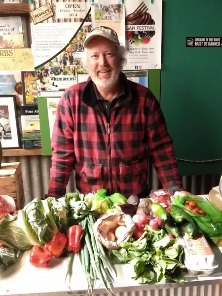
{"label": "large pale green leaf with thick white rib at left edge", "polygon": [[0,222],[0,243],[21,251],[41,245],[37,233],[28,223],[28,217],[23,210],[19,211],[16,216],[5,216]]}

